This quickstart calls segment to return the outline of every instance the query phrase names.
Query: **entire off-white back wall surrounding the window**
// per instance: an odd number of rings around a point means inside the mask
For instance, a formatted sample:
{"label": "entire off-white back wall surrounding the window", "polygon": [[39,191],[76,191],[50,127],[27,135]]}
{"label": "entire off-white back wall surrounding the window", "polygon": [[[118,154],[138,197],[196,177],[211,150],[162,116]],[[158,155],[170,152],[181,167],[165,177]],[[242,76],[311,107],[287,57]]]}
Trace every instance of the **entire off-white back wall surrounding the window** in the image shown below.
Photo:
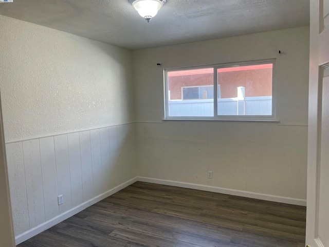
{"label": "entire off-white back wall surrounding the window", "polygon": [[[306,199],[308,27],[137,50],[133,57],[141,177]],[[161,121],[164,68],[273,58],[279,124]]]}

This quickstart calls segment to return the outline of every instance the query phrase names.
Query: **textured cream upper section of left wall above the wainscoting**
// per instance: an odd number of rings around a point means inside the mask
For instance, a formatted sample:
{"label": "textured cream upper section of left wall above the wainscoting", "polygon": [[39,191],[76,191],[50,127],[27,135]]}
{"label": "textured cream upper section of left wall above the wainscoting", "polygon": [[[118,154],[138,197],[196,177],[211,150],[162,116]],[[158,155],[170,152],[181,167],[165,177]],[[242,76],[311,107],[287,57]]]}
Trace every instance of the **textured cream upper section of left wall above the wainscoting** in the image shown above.
{"label": "textured cream upper section of left wall above the wainscoting", "polygon": [[131,51],[0,16],[6,142],[134,120]]}

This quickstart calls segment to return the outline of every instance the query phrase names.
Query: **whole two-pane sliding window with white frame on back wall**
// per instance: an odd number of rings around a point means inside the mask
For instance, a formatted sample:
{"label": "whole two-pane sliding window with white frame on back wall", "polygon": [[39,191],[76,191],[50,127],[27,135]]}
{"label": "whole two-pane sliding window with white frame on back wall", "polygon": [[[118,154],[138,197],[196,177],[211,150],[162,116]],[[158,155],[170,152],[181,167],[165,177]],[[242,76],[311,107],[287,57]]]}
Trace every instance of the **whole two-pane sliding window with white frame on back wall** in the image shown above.
{"label": "whole two-pane sliding window with white frame on back wall", "polygon": [[274,71],[275,60],[166,69],[166,119],[275,120]]}

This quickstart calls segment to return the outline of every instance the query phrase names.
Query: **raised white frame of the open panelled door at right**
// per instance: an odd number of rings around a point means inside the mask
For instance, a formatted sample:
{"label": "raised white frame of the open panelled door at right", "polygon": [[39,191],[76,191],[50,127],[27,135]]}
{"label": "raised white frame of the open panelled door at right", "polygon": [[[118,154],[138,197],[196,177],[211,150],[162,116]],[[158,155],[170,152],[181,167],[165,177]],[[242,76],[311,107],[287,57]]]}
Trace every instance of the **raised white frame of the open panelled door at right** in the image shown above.
{"label": "raised white frame of the open panelled door at right", "polygon": [[329,40],[324,28],[323,0],[310,0],[310,50],[307,147],[306,244],[324,247],[318,236],[319,178],[321,162],[322,82],[329,66],[329,49],[321,45]]}

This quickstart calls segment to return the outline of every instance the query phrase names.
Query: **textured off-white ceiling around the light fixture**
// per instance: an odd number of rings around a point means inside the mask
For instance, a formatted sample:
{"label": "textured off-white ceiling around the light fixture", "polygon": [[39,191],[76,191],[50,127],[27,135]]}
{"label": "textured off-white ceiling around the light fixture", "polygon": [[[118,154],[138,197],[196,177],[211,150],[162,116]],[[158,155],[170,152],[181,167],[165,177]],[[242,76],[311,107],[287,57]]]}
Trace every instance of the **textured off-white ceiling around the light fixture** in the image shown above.
{"label": "textured off-white ceiling around the light fixture", "polygon": [[307,26],[309,0],[167,0],[150,23],[129,0],[14,0],[0,14],[140,49]]}

